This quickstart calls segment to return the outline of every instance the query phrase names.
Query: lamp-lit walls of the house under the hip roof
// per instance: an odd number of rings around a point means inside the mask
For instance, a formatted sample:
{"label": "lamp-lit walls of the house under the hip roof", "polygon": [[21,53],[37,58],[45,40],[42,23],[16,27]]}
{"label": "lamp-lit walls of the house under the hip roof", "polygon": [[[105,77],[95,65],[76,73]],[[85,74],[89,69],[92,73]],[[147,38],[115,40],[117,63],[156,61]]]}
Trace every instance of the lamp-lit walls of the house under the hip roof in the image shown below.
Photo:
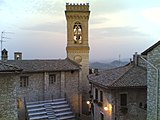
{"label": "lamp-lit walls of the house under the hip roof", "polygon": [[[100,101],[100,91],[103,91],[103,107],[99,106],[97,102],[95,102],[94,91],[95,88],[98,89],[98,102]],[[127,94],[127,113],[122,114],[121,106],[120,106],[120,94]],[[98,85],[92,85],[92,93],[93,95],[93,106],[94,106],[94,116],[92,114],[92,118],[95,120],[101,120],[100,114],[104,115],[104,119],[106,120],[126,120],[126,118],[130,118],[130,116],[139,116],[140,118],[146,119],[146,107],[147,103],[147,92],[146,88],[124,88],[124,89],[107,89]],[[139,104],[142,103],[142,107],[139,107]],[[133,106],[134,107],[130,107]],[[108,110],[104,110],[104,107],[107,107]],[[142,114],[138,114],[141,110]],[[128,119],[130,120],[130,119]],[[135,117],[132,120],[137,120]]]}

